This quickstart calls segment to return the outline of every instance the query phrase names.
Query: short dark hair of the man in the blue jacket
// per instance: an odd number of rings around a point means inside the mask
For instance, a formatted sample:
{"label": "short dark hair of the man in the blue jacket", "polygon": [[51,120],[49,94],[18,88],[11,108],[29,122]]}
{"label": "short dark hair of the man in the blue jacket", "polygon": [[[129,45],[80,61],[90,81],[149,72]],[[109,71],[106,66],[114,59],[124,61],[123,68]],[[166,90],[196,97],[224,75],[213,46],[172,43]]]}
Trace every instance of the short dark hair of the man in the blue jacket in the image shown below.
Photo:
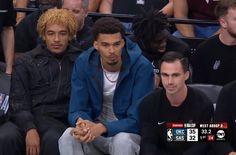
{"label": "short dark hair of the man in the blue jacket", "polygon": [[118,19],[113,17],[102,17],[99,18],[93,25],[92,34],[94,40],[97,40],[100,33],[103,34],[114,34],[120,32],[122,38],[125,35],[124,26]]}

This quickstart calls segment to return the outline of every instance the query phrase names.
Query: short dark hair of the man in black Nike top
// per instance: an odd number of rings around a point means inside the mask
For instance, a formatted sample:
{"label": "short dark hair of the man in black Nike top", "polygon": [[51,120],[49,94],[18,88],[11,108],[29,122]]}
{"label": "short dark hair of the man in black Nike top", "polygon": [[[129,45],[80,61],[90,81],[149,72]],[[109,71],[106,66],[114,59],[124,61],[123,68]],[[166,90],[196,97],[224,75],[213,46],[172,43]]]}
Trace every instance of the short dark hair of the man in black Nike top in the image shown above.
{"label": "short dark hair of the man in black Nike top", "polygon": [[161,65],[163,62],[174,62],[179,60],[184,72],[189,71],[189,61],[188,58],[185,57],[182,53],[176,51],[168,51],[166,52],[162,58],[159,60],[159,68],[161,70]]}

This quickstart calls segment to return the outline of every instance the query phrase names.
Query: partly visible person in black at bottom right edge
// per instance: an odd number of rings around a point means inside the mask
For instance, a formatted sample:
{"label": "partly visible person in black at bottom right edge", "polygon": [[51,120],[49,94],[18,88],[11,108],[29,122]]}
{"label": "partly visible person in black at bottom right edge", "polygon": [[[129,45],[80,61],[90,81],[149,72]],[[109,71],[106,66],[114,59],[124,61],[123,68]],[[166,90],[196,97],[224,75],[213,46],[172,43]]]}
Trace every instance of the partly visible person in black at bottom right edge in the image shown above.
{"label": "partly visible person in black at bottom right edge", "polygon": [[227,122],[227,141],[213,145],[217,155],[236,155],[236,81],[230,82],[223,87],[219,95],[215,122]]}

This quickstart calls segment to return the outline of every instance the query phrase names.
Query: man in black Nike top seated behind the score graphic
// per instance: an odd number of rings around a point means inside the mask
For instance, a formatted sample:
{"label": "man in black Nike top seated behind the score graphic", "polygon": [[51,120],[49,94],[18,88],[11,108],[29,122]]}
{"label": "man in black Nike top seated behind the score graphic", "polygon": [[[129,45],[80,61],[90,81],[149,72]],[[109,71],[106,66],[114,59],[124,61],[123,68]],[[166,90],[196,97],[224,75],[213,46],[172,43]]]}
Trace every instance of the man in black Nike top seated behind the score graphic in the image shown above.
{"label": "man in black Nike top seated behind the score graphic", "polygon": [[146,96],[140,106],[140,154],[205,155],[205,143],[167,141],[167,123],[210,122],[213,105],[203,93],[185,84],[189,78],[187,58],[168,52],[160,59],[159,66],[164,88]]}

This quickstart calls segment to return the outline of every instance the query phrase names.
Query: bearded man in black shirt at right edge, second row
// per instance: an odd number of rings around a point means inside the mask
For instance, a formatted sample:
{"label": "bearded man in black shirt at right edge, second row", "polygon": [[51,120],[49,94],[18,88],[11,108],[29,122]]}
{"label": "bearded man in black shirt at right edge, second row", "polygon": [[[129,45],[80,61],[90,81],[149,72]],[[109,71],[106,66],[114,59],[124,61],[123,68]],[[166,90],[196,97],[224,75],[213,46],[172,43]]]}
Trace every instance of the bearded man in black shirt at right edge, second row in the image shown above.
{"label": "bearded man in black shirt at right edge, second row", "polygon": [[236,0],[221,0],[215,14],[221,31],[193,55],[193,82],[223,86],[236,79]]}

